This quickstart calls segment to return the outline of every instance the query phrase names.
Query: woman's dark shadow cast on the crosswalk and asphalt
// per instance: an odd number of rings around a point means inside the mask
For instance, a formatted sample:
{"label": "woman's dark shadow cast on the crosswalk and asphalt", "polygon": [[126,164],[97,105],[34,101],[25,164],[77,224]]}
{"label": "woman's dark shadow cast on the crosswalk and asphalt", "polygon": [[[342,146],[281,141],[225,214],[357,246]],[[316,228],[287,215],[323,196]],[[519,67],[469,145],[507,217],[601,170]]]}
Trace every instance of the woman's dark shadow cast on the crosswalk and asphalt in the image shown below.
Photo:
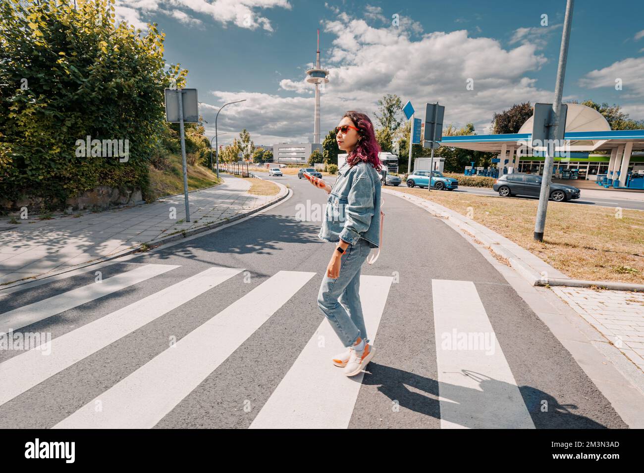
{"label": "woman's dark shadow cast on the crosswalk and asphalt", "polygon": [[[444,382],[439,383],[431,378],[374,362],[369,364],[363,384],[379,385],[378,391],[392,401],[397,401],[401,407],[461,427],[471,429],[531,427],[526,425],[525,411],[521,408],[513,412],[513,403],[507,402],[508,394],[516,392],[514,385],[466,369],[461,370],[460,375],[469,376],[478,382],[478,389]],[[432,397],[411,391],[408,386],[418,391],[424,391]],[[577,409],[576,405],[560,404],[556,398],[540,389],[519,386],[518,390],[537,429],[606,428],[590,418],[571,412],[571,409]],[[445,400],[442,417],[439,392]],[[507,409],[508,406],[510,409]],[[514,406],[520,407],[516,402]],[[519,411],[522,411],[523,415]],[[472,415],[473,413],[474,415]]]}

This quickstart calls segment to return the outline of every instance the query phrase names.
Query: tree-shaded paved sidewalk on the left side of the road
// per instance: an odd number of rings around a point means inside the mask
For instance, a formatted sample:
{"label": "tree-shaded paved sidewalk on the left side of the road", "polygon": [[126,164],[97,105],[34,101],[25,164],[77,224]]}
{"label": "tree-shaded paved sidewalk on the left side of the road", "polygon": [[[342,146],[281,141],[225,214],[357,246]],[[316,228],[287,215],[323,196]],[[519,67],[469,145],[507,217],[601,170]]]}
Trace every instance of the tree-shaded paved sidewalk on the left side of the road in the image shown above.
{"label": "tree-shaded paved sidewalk on the left side of the road", "polygon": [[32,218],[19,220],[20,225],[8,225],[8,219],[3,219],[0,230],[8,228],[0,231],[0,284],[57,274],[160,237],[245,214],[278,198],[249,194],[247,180],[225,174],[222,178],[220,185],[189,192],[191,222],[185,222],[183,194],[78,218]]}

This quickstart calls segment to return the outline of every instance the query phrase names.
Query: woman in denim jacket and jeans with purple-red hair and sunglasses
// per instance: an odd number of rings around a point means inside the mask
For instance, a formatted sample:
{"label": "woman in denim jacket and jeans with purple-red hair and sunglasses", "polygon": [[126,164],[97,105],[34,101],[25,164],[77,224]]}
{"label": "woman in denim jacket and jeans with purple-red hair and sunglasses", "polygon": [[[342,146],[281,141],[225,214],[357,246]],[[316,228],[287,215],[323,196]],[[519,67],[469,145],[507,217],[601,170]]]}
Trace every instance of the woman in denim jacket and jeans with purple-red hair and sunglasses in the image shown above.
{"label": "woman in denim jacket and jeans with purple-red hair and sunglasses", "polygon": [[334,186],[323,187],[329,197],[318,236],[337,245],[317,306],[346,347],[332,362],[344,367],[346,376],[354,376],[375,355],[367,338],[359,289],[361,267],[371,248],[380,246],[380,147],[371,120],[356,111],[345,113],[336,127],[336,140],[347,158]]}

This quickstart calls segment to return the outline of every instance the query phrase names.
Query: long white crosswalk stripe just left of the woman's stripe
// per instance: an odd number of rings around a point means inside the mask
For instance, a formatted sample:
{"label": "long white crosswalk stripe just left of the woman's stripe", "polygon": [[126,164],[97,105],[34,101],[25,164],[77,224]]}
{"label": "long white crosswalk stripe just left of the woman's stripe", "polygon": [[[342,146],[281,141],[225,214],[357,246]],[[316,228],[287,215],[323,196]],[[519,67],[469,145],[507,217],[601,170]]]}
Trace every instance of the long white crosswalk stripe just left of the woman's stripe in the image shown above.
{"label": "long white crosswalk stripe just left of the woman's stripe", "polygon": [[154,427],[314,275],[279,271],[53,428]]}

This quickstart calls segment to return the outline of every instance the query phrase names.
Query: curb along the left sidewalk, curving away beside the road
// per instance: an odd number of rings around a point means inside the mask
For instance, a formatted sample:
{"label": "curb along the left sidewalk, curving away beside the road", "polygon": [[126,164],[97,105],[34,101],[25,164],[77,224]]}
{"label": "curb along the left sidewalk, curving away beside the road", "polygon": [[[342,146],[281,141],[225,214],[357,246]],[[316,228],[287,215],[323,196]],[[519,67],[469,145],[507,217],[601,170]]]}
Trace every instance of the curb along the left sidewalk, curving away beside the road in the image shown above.
{"label": "curb along the left sidewalk, curving away beside the road", "polygon": [[[259,178],[259,179],[261,179],[261,178]],[[59,271],[59,272],[47,273],[46,275],[43,275],[43,277],[35,277],[35,278],[30,277],[28,279],[24,279],[24,280],[21,280],[21,281],[16,281],[15,283],[12,283],[12,284],[7,284],[6,286],[0,286],[0,292],[3,292],[4,290],[7,290],[7,289],[15,288],[17,286],[22,286],[23,284],[33,283],[33,281],[40,281],[41,279],[46,279],[48,277],[57,276],[59,274],[65,274],[65,273],[70,272],[70,271],[76,271],[76,270],[79,270],[79,269],[82,269],[82,268],[86,268],[88,266],[94,266],[95,264],[105,263],[106,261],[111,261],[113,259],[117,259],[117,258],[126,256],[126,255],[129,255],[129,254],[137,253],[137,252],[140,252],[141,246],[143,246],[143,245],[155,246],[155,247],[156,246],[161,246],[161,245],[164,245],[166,243],[172,243],[173,241],[177,241],[177,240],[180,240],[180,239],[183,239],[183,238],[191,237],[191,236],[194,236],[196,234],[200,234],[202,232],[207,232],[208,230],[212,230],[213,228],[221,227],[222,225],[227,225],[227,224],[232,223],[234,221],[237,221],[239,219],[246,218],[246,217],[248,217],[248,216],[250,216],[250,215],[252,215],[252,214],[254,214],[256,212],[259,212],[260,210],[263,210],[263,209],[266,209],[267,207],[270,207],[270,205],[274,205],[275,203],[277,203],[277,202],[287,198],[287,196],[289,196],[289,189],[285,185],[283,185],[281,183],[278,183],[278,182],[274,182],[274,181],[271,181],[271,182],[273,182],[276,185],[278,185],[280,190],[279,190],[276,198],[274,198],[271,201],[265,203],[264,205],[261,205],[261,207],[256,207],[255,209],[248,210],[247,212],[243,212],[243,213],[238,214],[238,215],[236,215],[236,216],[234,216],[232,218],[225,218],[223,220],[218,220],[218,221],[216,221],[214,223],[211,223],[209,225],[203,225],[201,227],[192,228],[190,230],[185,230],[183,232],[179,232],[179,233],[174,234],[174,235],[169,235],[169,236],[166,236],[166,237],[158,238],[156,240],[146,241],[144,243],[141,243],[140,245],[137,245],[136,247],[129,248],[128,250],[123,250],[121,252],[118,252],[117,254],[108,255],[107,257],[94,259],[94,260],[92,260],[92,261],[90,261],[88,263],[82,263],[82,264],[79,264],[78,266],[73,266],[73,268],[67,268],[66,270],[62,270],[62,271]],[[214,187],[214,186],[211,186],[211,187]],[[205,189],[207,189],[207,188],[205,188]],[[183,195],[183,194],[177,194],[177,195]],[[166,196],[164,198],[167,198],[167,197],[171,197],[171,196]]]}

